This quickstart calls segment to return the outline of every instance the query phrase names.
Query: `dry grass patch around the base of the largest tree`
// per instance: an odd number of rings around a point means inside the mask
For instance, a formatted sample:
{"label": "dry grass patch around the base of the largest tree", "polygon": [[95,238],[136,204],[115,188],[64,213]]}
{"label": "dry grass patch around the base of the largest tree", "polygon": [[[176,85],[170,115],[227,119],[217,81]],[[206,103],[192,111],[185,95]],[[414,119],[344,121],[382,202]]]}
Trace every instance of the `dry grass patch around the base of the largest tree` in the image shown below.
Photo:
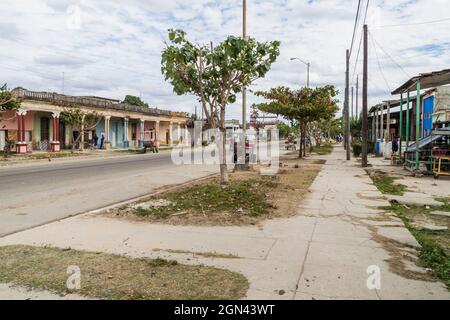
{"label": "dry grass patch around the base of the largest tree", "polygon": [[[255,225],[295,215],[320,168],[321,162],[285,159],[277,176],[233,173],[225,188],[217,178],[211,178],[103,214],[172,225]],[[171,205],[150,209],[144,206],[159,200]]]}

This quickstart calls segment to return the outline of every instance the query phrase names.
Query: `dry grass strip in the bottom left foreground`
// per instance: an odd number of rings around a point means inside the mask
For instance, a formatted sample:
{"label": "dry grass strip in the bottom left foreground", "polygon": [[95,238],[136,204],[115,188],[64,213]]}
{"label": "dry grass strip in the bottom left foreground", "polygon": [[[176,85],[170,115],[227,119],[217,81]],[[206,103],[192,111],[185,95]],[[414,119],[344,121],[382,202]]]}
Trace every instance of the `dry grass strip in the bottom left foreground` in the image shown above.
{"label": "dry grass strip in the bottom left foreground", "polygon": [[[68,266],[80,268],[80,290],[67,289]],[[228,300],[248,290],[247,279],[228,270],[31,246],[0,247],[0,282],[114,300]]]}

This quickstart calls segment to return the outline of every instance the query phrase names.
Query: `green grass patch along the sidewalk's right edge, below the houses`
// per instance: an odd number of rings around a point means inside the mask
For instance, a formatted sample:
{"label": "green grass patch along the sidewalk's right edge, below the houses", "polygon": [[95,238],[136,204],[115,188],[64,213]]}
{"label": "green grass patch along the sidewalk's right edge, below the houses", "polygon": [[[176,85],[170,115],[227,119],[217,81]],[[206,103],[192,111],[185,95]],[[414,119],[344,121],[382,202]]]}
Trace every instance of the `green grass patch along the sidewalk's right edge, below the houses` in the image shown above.
{"label": "green grass patch along the sidewalk's right edge, below the houses", "polygon": [[443,206],[405,206],[394,203],[388,209],[403,220],[422,246],[419,256],[421,265],[432,269],[450,290],[450,231],[429,231],[417,227],[424,222],[450,226],[450,218],[431,215],[432,211],[450,212],[450,199],[440,199],[443,200]]}

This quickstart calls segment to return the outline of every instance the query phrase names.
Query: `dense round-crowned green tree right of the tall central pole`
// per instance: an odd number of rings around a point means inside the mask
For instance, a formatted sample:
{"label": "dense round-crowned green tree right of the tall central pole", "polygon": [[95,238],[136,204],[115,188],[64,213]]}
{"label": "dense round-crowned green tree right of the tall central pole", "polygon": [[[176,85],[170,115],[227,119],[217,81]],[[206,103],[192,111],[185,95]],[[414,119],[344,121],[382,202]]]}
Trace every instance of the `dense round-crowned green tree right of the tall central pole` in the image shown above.
{"label": "dense round-crowned green tree right of the tall central pole", "polygon": [[287,87],[272,88],[269,91],[258,91],[257,96],[270,102],[257,104],[264,112],[283,116],[289,121],[297,121],[300,134],[300,158],[306,153],[306,135],[308,125],[314,121],[330,121],[338,111],[334,86],[318,88],[301,88],[292,90]]}

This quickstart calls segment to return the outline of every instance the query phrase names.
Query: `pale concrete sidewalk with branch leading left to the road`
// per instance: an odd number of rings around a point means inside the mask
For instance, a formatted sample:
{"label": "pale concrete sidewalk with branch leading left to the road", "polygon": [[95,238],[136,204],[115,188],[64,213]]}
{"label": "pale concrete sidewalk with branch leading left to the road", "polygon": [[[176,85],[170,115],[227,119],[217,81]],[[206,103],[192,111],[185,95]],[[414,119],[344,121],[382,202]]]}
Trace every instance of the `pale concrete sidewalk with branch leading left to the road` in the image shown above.
{"label": "pale concrete sidewalk with branch leading left to the road", "polygon": [[[365,171],[343,160],[342,147],[321,158],[327,164],[299,214],[289,219],[252,227],[181,227],[83,215],[2,238],[0,245],[53,245],[222,267],[249,279],[248,299],[450,299],[442,283],[414,264],[418,243],[403,223],[377,209],[388,203]],[[380,290],[367,287],[370,266],[381,271]]]}

